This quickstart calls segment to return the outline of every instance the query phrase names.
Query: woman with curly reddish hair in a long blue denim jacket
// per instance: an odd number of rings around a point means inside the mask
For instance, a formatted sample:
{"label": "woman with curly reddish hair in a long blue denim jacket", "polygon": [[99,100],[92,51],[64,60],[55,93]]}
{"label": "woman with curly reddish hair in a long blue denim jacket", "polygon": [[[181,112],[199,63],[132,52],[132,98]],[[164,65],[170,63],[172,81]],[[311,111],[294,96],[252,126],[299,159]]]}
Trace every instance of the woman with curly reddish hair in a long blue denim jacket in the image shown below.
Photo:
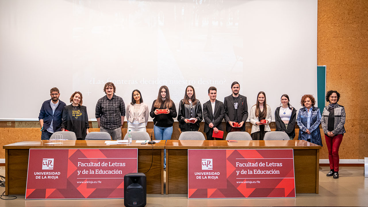
{"label": "woman with curly reddish hair in a long blue denim jacket", "polygon": [[300,128],[299,140],[306,140],[322,146],[321,132],[321,111],[314,107],[316,101],[312,95],[306,94],[301,98],[300,104],[304,106],[299,109],[297,123]]}

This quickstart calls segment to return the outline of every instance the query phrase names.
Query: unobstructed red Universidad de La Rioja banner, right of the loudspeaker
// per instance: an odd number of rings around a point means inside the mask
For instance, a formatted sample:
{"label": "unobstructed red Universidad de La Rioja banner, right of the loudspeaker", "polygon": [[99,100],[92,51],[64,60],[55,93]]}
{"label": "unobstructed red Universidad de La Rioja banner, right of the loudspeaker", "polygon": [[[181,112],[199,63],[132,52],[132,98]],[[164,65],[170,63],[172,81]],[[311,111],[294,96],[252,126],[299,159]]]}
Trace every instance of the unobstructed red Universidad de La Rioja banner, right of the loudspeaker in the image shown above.
{"label": "unobstructed red Universidad de La Rioja banner, right of the loudspeaker", "polygon": [[293,149],[188,150],[188,198],[295,197]]}

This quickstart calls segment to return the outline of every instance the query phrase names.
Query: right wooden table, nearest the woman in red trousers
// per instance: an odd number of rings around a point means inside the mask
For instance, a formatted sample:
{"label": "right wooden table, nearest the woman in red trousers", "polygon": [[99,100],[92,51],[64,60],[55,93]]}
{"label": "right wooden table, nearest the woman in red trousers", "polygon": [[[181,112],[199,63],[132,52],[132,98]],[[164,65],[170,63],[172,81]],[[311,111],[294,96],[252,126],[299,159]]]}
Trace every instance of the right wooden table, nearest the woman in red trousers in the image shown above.
{"label": "right wooden table, nearest the woman in red trousers", "polygon": [[188,193],[188,149],[294,149],[296,193],[318,193],[319,149],[304,140],[167,140],[166,194]]}

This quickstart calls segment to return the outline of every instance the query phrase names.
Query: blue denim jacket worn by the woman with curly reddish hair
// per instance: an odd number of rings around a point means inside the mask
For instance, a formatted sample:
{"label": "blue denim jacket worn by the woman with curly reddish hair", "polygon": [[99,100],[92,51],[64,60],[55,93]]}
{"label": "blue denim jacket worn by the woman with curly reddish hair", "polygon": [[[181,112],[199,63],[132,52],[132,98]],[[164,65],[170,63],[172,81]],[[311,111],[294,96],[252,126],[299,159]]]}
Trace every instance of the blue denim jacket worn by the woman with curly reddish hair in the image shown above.
{"label": "blue denim jacket worn by the woman with curly reddish hair", "polygon": [[[312,116],[309,131],[311,132],[311,143],[318,144],[322,146],[321,132],[319,130],[319,124],[321,124],[321,111],[319,108],[312,106]],[[299,109],[297,123],[300,128],[299,130],[299,140],[307,140],[307,120],[308,111],[307,108],[303,107]]]}

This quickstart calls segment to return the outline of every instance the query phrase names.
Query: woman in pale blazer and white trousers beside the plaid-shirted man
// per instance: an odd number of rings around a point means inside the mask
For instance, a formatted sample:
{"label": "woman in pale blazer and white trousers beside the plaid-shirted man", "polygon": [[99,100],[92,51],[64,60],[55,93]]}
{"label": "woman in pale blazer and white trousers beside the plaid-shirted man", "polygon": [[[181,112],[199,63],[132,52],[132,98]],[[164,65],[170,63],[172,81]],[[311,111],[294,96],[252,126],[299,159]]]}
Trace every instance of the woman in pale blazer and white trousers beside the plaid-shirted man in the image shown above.
{"label": "woman in pale blazer and white trousers beside the plaid-shirted man", "polygon": [[139,90],[132,92],[132,102],[127,106],[128,131],[144,131],[148,122],[148,105],[143,103]]}

